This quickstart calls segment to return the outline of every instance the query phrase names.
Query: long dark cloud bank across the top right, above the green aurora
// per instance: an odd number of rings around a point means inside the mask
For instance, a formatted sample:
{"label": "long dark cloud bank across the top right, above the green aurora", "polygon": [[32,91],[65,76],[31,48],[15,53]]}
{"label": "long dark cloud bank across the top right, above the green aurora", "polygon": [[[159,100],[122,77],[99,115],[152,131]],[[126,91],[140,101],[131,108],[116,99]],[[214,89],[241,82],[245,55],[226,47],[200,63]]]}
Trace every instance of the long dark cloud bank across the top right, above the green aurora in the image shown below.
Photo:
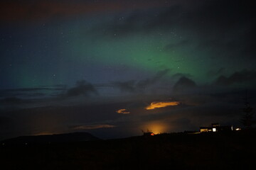
{"label": "long dark cloud bank across the top right, above the green aurora", "polygon": [[[189,6],[189,8],[188,8]],[[131,31],[151,31],[189,26],[197,30],[228,31],[232,26],[252,22],[255,3],[252,1],[181,1],[166,4],[159,11],[134,11],[127,19],[113,24],[110,30],[129,33]],[[127,26],[127,27],[126,27]],[[205,31],[203,31],[205,32]]]}

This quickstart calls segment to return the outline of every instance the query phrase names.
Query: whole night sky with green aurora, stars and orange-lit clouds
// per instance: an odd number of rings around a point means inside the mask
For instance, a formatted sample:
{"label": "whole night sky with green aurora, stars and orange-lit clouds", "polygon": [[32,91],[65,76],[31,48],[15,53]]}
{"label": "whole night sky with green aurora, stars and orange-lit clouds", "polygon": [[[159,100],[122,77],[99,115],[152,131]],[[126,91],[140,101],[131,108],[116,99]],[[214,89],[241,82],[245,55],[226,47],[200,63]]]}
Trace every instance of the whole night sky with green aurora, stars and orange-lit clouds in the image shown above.
{"label": "whole night sky with green aurora, stars and orange-lit clouds", "polygon": [[[240,127],[256,95],[255,3],[0,3],[0,140]],[[156,107],[155,107],[156,106]]]}

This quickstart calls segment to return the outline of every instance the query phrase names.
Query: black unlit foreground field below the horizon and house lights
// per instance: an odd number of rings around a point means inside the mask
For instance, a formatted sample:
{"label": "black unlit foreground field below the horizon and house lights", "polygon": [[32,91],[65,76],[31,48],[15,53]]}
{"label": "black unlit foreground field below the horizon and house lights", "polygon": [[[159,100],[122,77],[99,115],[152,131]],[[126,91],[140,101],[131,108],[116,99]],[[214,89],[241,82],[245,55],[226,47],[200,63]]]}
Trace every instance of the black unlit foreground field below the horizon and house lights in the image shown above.
{"label": "black unlit foreground field below the horizon and house lights", "polygon": [[0,169],[256,169],[255,132],[2,145]]}

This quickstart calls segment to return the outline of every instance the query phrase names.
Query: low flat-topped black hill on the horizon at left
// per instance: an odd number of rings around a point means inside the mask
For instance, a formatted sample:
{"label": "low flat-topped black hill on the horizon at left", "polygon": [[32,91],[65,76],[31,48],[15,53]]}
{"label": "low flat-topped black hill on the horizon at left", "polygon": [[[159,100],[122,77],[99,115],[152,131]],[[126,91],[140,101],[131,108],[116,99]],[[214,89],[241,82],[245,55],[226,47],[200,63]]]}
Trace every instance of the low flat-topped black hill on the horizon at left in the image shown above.
{"label": "low flat-topped black hill on the horizon at left", "polygon": [[43,144],[53,142],[83,142],[100,140],[88,132],[73,132],[56,135],[21,136],[1,141],[5,144]]}

